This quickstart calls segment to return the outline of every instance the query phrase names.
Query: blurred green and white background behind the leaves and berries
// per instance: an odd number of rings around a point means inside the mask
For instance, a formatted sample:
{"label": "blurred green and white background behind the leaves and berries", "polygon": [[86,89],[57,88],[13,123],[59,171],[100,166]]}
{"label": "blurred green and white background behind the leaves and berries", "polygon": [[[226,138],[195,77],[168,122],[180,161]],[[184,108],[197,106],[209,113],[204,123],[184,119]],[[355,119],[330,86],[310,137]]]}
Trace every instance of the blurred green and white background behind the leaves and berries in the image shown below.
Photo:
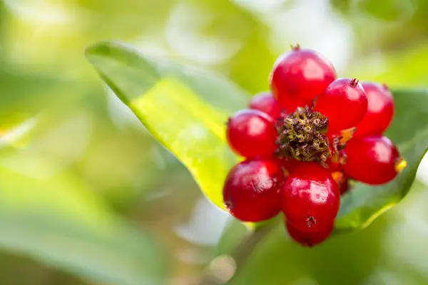
{"label": "blurred green and white background behind the leaves and berries", "polygon": [[[228,214],[86,61],[106,40],[250,93],[291,43],[340,76],[428,84],[426,0],[0,1],[0,284],[194,284],[227,247]],[[428,284],[426,183],[422,162],[399,206],[317,249],[278,233],[233,284]]]}

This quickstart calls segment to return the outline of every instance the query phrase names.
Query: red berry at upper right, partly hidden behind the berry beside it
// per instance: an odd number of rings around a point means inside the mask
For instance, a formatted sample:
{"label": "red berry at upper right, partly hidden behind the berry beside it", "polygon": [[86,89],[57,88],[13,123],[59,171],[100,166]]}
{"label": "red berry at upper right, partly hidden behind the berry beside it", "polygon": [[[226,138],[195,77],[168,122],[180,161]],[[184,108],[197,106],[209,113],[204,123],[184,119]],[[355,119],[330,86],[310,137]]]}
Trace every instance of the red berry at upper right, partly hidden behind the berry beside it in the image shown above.
{"label": "red berry at upper right, partly hidden behind the berry beside it", "polygon": [[357,125],[354,138],[382,135],[394,116],[394,98],[385,85],[374,82],[362,82],[361,85],[367,94],[367,113]]}

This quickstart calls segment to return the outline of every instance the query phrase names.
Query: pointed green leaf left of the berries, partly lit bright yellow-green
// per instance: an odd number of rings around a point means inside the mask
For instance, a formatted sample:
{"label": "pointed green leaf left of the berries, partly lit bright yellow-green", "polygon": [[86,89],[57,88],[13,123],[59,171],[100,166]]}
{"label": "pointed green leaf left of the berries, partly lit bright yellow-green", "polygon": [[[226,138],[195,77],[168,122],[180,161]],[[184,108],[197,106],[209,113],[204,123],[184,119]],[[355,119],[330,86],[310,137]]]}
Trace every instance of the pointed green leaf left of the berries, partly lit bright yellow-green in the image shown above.
{"label": "pointed green leaf left of the berries, partly lit bright yellow-green", "polygon": [[221,76],[139,55],[118,43],[100,43],[86,55],[208,199],[223,208],[222,182],[238,161],[225,142],[225,123],[248,95]]}

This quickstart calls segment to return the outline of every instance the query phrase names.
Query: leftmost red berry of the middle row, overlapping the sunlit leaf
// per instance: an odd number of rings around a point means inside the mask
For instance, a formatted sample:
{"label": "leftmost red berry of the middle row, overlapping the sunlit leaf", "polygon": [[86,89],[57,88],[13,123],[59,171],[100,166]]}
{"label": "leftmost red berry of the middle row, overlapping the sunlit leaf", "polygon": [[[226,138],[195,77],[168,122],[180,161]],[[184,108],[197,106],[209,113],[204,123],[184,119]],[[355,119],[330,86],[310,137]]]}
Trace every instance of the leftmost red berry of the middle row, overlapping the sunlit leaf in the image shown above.
{"label": "leftmost red berry of the middle row, overlapping the sunlit leaf", "polygon": [[228,120],[228,143],[243,157],[272,157],[277,146],[272,118],[259,110],[239,110]]}

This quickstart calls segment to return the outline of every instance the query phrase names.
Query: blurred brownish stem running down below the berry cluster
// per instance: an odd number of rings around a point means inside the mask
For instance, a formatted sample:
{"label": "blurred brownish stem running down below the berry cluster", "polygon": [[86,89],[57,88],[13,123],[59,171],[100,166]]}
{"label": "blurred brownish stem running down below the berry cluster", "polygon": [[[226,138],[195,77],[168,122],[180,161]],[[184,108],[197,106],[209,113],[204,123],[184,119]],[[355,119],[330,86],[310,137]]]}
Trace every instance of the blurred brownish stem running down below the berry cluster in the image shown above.
{"label": "blurred brownish stem running down below the berry cluster", "polygon": [[[245,261],[248,257],[254,252],[255,248],[260,244],[260,242],[270,233],[270,231],[275,227],[275,222],[269,222],[263,224],[263,226],[258,227],[254,231],[250,232],[233,250],[230,254],[230,258],[235,261],[234,264],[229,264],[230,267],[233,267],[232,276],[228,280],[219,278],[218,272],[213,270],[213,268],[218,268],[218,266],[228,266],[225,265],[224,260],[214,259],[211,261],[210,266],[205,270],[205,274],[198,283],[199,285],[224,285],[229,284],[230,280],[235,276],[235,274],[242,269]],[[218,263],[218,266],[215,266]]]}

